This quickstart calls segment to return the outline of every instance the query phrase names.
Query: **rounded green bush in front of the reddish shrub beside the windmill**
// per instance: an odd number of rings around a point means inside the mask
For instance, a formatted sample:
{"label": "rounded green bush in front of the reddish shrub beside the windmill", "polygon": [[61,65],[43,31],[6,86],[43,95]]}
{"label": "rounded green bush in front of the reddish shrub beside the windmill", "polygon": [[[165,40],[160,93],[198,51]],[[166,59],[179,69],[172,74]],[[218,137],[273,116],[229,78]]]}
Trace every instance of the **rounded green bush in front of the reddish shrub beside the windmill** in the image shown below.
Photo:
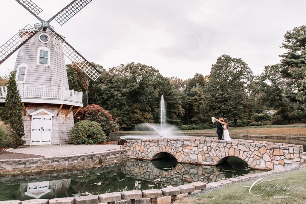
{"label": "rounded green bush in front of the reddish shrub beside the windmill", "polygon": [[99,123],[95,121],[83,120],[77,122],[70,132],[70,140],[75,144],[98,144],[106,140]]}

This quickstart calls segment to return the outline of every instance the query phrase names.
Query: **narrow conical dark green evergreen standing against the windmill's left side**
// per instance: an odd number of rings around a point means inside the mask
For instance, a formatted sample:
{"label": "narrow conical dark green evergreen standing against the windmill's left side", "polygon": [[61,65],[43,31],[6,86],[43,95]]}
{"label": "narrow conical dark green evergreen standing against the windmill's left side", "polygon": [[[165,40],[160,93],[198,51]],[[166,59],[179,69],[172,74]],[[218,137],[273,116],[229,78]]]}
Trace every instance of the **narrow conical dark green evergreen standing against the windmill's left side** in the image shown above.
{"label": "narrow conical dark green evergreen standing against the windmill's left side", "polygon": [[22,106],[19,91],[16,83],[16,72],[13,70],[10,72],[9,83],[7,85],[7,95],[5,98],[5,106],[2,110],[2,120],[6,124],[10,124],[13,130],[13,137],[15,139],[13,147],[20,147],[25,143],[22,139],[24,135],[24,126],[22,122]]}

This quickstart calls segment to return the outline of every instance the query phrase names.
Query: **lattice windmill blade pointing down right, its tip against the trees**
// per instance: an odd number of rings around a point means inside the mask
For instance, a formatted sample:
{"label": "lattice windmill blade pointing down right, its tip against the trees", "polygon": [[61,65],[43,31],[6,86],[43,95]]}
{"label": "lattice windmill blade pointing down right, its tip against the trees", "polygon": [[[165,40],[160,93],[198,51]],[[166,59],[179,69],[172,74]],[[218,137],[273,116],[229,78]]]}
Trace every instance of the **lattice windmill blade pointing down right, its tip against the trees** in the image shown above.
{"label": "lattice windmill blade pointing down right, its tip against the trees", "polygon": [[52,33],[50,40],[54,43],[60,43],[63,54],[68,57],[73,64],[80,68],[85,74],[87,74],[92,80],[96,80],[101,72],[96,69],[89,61],[87,61],[78,51],[76,51],[69,43],[65,41],[59,34],[56,32]]}

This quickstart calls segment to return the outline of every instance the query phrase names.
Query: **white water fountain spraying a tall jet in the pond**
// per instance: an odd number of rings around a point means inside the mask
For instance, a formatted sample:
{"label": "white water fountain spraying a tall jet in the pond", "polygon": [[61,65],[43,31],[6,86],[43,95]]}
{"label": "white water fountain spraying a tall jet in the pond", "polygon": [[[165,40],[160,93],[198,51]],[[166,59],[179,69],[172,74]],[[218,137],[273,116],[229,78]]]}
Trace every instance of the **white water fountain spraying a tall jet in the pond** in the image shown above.
{"label": "white water fountain spraying a tall jet in the pond", "polygon": [[160,99],[160,124],[155,123],[143,123],[137,125],[135,130],[146,130],[151,129],[154,130],[160,137],[162,136],[173,136],[173,131],[177,129],[176,126],[167,124],[166,117],[166,106],[164,101],[164,96],[161,96]]}

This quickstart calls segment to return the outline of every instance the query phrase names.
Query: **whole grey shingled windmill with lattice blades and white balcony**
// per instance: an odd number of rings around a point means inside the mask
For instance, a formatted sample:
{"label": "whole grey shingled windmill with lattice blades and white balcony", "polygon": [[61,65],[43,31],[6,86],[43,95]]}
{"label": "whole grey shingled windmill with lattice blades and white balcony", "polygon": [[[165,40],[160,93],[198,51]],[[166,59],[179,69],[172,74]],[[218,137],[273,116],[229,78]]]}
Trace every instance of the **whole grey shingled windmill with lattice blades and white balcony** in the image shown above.
{"label": "whole grey shingled windmill with lattice blades and white balcony", "polygon": [[[49,20],[42,20],[38,16],[42,9],[34,2],[16,0],[39,20],[0,47],[0,65],[18,50],[14,68],[24,110],[25,145],[70,143],[69,131],[73,116],[83,106],[83,93],[69,90],[64,55],[92,80],[101,73],[50,22],[55,19],[62,26],[91,1],[74,0]],[[1,86],[0,103],[4,104],[5,97],[6,86]]]}

